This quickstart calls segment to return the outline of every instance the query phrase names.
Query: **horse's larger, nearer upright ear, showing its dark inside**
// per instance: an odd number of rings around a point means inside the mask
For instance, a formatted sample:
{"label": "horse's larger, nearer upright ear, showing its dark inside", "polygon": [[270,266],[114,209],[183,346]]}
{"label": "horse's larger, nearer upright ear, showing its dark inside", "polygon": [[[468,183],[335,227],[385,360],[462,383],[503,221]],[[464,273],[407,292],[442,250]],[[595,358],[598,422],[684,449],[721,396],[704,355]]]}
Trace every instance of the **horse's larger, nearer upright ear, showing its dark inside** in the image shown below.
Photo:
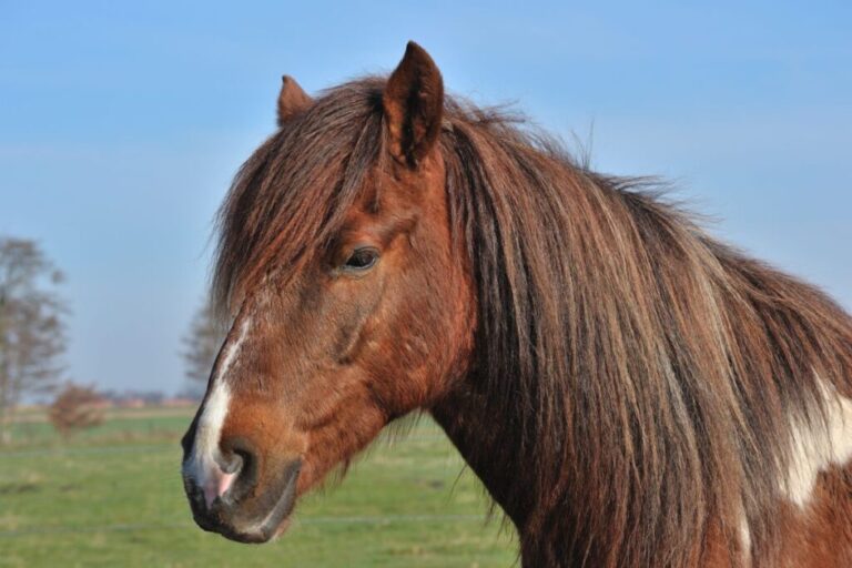
{"label": "horse's larger, nearer upright ear, showing its dark inside", "polygon": [[390,154],[415,168],[440,133],[444,80],[428,53],[413,41],[382,95]]}

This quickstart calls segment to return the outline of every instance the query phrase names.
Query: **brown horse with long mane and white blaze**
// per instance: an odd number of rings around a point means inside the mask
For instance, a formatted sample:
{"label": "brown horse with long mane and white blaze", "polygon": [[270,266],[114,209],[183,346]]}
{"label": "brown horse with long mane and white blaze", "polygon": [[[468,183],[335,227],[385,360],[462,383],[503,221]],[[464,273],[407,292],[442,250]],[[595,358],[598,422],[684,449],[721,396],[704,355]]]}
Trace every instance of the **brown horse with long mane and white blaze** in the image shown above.
{"label": "brown horse with long mane and white blaze", "polygon": [[183,439],[242,541],[423,409],[526,567],[852,566],[852,318],[651,183],[444,95],[409,43],[312,99],[221,210],[232,327]]}

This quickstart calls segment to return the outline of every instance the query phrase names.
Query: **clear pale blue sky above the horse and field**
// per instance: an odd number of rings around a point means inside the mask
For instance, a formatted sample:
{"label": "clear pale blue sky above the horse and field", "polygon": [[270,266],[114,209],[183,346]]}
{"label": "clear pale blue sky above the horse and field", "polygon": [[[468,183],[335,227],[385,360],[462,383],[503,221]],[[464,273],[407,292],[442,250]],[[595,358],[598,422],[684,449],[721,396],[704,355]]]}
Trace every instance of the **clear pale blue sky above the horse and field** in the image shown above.
{"label": "clear pale blue sky above the horse and field", "polygon": [[414,39],[450,92],[594,131],[597,169],[674,180],[852,307],[850,30],[848,1],[0,0],[0,234],[68,273],[70,377],[178,390],[211,221],[281,74],[316,91]]}

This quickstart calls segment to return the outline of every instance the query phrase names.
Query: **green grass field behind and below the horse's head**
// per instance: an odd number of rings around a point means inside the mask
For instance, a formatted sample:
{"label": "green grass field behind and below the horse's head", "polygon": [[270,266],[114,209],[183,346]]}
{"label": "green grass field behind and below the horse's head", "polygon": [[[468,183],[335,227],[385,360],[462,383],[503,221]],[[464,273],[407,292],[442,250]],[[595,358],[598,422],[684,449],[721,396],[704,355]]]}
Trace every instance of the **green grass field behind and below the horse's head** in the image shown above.
{"label": "green grass field behind and below the horse's head", "polygon": [[261,546],[193,524],[179,475],[189,422],[185,410],[126,410],[68,444],[47,423],[17,425],[19,442],[0,449],[0,566],[515,564],[510,530],[499,515],[486,523],[481,486],[427,419],[374,444],[342,484],[298,504],[287,534]]}

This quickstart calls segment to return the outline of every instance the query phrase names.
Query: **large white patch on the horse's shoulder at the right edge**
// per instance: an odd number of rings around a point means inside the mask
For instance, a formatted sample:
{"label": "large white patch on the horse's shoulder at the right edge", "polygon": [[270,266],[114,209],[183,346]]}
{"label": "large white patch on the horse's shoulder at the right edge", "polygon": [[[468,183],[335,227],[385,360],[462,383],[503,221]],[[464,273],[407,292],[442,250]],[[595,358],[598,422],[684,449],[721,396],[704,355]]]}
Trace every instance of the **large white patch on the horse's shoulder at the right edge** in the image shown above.
{"label": "large white patch on the horse's shoulder at the right edge", "polygon": [[781,484],[788,499],[801,508],[808,505],[820,471],[852,458],[852,400],[819,377],[816,383],[825,399],[825,419],[793,422],[791,459]]}

